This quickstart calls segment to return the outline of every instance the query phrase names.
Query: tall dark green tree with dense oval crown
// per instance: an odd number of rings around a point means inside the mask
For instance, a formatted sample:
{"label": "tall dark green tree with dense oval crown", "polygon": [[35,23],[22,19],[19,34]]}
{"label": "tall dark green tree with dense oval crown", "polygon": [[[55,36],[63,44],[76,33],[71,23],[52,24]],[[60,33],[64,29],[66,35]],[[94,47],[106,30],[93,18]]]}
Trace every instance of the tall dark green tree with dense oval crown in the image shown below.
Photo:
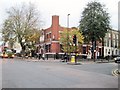
{"label": "tall dark green tree with dense oval crown", "polygon": [[109,24],[109,14],[106,12],[105,5],[96,1],[87,4],[82,13],[79,28],[83,32],[85,42],[92,42],[93,52],[96,49],[96,41],[102,42],[104,46],[105,34],[110,29]]}

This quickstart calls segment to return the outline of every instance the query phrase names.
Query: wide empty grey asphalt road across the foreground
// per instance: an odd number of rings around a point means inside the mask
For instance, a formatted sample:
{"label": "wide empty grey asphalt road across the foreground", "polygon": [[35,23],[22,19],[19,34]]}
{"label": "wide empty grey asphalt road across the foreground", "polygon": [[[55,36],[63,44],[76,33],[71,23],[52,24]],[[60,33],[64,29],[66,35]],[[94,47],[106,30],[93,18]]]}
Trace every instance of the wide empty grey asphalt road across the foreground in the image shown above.
{"label": "wide empty grey asphalt road across the foreground", "polygon": [[[2,59],[1,59],[2,60]],[[115,63],[69,65],[59,60],[2,60],[3,88],[118,88]]]}

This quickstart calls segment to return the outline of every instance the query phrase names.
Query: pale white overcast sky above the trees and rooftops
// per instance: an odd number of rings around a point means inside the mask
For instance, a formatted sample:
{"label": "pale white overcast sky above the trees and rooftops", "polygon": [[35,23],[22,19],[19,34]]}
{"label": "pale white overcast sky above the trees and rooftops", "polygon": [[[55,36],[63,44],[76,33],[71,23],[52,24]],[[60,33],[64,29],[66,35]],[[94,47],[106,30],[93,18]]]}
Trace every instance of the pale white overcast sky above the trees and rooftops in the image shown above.
{"label": "pale white overcast sky above the trees and rooftops", "polygon": [[[40,11],[43,28],[51,26],[52,15],[59,15],[60,25],[67,26],[67,14],[69,16],[69,26],[77,27],[81,18],[81,13],[87,3],[93,0],[0,0],[0,25],[7,17],[6,10],[12,6],[19,6],[21,3],[33,3]],[[118,1],[119,0],[96,0],[105,4],[107,12],[111,17],[111,26],[113,29],[118,28]]]}

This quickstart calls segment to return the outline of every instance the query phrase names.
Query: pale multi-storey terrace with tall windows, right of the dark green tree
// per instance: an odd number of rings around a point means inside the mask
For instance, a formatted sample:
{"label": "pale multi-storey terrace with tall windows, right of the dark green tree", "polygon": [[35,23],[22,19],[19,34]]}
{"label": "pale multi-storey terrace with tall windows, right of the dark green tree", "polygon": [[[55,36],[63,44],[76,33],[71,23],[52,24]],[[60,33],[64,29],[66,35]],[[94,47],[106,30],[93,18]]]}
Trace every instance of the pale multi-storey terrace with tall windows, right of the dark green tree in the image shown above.
{"label": "pale multi-storey terrace with tall windows, right of the dark green tree", "polygon": [[120,55],[119,33],[117,30],[108,30],[104,38],[104,56]]}

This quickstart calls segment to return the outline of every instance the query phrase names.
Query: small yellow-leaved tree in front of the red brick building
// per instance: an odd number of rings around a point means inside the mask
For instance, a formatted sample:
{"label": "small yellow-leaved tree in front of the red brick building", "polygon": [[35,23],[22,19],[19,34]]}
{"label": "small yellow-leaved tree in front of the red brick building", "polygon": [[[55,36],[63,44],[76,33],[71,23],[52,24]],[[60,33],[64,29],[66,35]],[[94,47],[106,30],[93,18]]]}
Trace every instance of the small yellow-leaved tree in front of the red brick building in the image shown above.
{"label": "small yellow-leaved tree in front of the red brick building", "polygon": [[[74,35],[76,35],[77,38],[77,45],[75,45],[73,42]],[[67,31],[67,29],[64,29],[60,35],[60,43],[62,44],[62,50],[68,53],[76,52],[76,50],[78,52],[80,50],[79,46],[83,43],[83,39],[84,37],[82,33],[80,33],[77,28],[74,27],[72,29],[69,29],[69,32]]]}

